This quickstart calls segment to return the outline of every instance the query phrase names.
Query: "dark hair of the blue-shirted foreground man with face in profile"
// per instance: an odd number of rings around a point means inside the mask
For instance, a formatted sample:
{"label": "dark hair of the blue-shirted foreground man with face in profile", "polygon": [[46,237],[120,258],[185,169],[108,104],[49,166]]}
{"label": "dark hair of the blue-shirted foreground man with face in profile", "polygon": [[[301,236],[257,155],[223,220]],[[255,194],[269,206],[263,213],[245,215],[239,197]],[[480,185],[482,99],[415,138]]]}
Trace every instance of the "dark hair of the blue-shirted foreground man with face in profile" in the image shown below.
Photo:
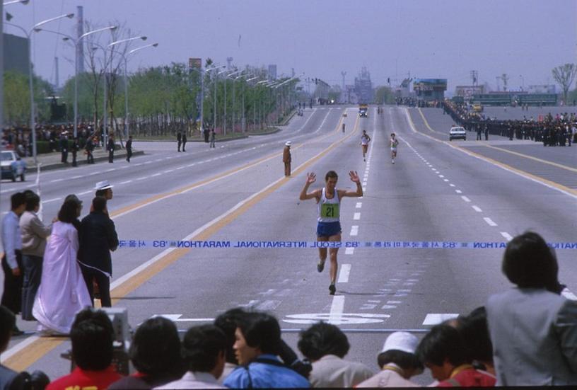
{"label": "dark hair of the blue-shirted foreground man with face in profile", "polygon": [[247,345],[260,348],[262,353],[278,355],[281,350],[281,327],[279,321],[267,313],[248,312],[238,321]]}

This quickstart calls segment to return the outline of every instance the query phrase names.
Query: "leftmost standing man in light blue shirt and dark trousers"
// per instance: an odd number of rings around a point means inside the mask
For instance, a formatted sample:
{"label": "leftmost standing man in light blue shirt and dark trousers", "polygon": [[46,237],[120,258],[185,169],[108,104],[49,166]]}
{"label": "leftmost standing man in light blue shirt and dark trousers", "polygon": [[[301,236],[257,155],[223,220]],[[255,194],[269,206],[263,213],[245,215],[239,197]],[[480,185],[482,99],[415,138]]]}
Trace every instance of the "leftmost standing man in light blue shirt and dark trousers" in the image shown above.
{"label": "leftmost standing man in light blue shirt and dark trousers", "polygon": [[[15,193],[10,197],[11,210],[2,219],[2,270],[4,270],[4,292],[1,305],[10,309],[14,315],[20,313],[22,306],[22,235],[18,219],[26,208],[26,197]],[[21,335],[16,323],[13,335]]]}

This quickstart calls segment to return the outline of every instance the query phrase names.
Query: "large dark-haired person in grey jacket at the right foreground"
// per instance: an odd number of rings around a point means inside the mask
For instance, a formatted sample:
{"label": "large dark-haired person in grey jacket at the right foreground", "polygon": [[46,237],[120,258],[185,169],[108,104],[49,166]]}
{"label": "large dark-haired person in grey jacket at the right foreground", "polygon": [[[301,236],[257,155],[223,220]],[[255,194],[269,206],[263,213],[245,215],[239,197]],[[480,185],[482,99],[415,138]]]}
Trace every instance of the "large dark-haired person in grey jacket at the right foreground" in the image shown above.
{"label": "large dark-haired person in grey jacket at the right foreground", "polygon": [[539,234],[521,234],[501,270],[516,287],[486,305],[497,385],[577,385],[577,302],[559,295],[554,251]]}

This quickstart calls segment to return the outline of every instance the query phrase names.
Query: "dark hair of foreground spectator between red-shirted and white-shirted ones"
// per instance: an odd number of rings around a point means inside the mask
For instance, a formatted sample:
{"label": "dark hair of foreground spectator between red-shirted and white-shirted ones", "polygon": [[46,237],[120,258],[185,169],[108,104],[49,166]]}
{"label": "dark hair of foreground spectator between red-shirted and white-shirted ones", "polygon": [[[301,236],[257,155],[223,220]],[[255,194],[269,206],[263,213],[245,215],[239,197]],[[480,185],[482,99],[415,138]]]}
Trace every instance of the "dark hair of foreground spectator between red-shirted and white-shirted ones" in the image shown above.
{"label": "dark hair of foreground spectator between red-shirted and white-shirted ones", "polygon": [[141,323],[134,333],[128,355],[134,368],[153,379],[169,377],[175,380],[184,374],[178,330],[173,321],[164,317]]}

